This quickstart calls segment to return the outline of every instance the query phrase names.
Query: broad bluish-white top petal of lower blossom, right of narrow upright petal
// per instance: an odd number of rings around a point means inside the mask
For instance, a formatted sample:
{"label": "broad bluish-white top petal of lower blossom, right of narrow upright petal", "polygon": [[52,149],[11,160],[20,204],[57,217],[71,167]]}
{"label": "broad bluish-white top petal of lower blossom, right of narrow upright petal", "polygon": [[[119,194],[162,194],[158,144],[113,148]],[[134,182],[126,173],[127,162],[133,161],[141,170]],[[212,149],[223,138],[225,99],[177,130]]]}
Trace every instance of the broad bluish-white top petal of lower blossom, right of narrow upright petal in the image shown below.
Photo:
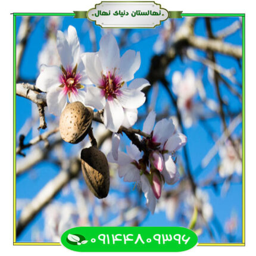
{"label": "broad bluish-white top petal of lower blossom, right of narrow upright petal", "polygon": [[175,130],[173,120],[167,120],[166,118],[158,121],[155,124],[153,139],[156,142],[165,143]]}

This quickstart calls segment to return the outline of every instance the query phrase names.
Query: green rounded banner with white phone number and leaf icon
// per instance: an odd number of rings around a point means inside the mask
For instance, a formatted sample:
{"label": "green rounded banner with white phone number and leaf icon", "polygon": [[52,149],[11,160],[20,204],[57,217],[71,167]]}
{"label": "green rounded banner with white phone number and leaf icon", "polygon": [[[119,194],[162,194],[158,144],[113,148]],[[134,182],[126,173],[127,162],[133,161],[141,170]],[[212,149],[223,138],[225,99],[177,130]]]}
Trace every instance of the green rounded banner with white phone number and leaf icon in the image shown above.
{"label": "green rounded banner with white phone number and leaf icon", "polygon": [[181,252],[197,242],[185,227],[74,227],[61,236],[77,252]]}

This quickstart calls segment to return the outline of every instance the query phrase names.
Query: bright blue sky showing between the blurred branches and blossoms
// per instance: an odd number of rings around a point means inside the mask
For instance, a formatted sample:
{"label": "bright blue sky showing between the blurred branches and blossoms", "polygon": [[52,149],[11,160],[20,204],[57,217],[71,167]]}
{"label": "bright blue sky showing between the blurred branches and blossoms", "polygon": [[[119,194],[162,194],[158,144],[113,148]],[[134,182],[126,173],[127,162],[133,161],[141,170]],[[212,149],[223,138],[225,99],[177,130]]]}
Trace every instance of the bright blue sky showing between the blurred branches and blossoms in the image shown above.
{"label": "bright blue sky showing between the blurred branches and blossoms", "polygon": [[[238,20],[238,17],[223,17],[217,18],[213,21],[213,32],[216,32],[220,29],[223,29],[226,26],[229,26],[234,21]],[[17,31],[20,26],[20,17],[17,17]],[[85,24],[83,24],[84,20],[82,19],[74,19],[73,17],[64,17],[63,23],[61,26],[61,30],[67,30],[69,25],[76,27],[77,34],[80,39],[81,45],[85,46],[85,51],[92,51],[92,45],[89,40],[89,33],[84,33],[83,28]],[[90,21],[87,21],[90,22]],[[177,24],[182,23],[183,20],[178,20]],[[35,31],[33,31],[29,41],[27,42],[27,49],[24,52],[23,63],[21,63],[20,76],[24,77],[24,79],[36,79],[39,74],[38,70],[38,53],[42,49],[42,45],[46,42],[45,38],[45,18],[42,18]],[[163,25],[162,25],[163,26]],[[141,62],[142,65],[139,70],[136,72],[137,77],[145,77],[148,73],[149,65],[151,57],[155,54],[152,49],[152,46],[155,43],[155,40],[158,38],[158,33],[161,27],[157,27],[157,29],[133,29],[129,33],[129,42],[130,39],[134,35],[143,35],[146,39],[139,40],[137,43],[130,44],[127,47],[121,49],[121,54],[123,54],[127,49],[134,49],[136,51],[141,52]],[[100,27],[95,26],[96,32],[96,40],[97,40],[97,49],[99,49],[99,39],[102,35],[102,29]],[[196,22],[195,34],[198,36],[206,36],[205,22],[203,18],[199,18]],[[228,36],[224,39],[226,42],[233,43],[235,45],[242,45],[242,35],[241,31],[234,33],[231,36]],[[196,51],[196,54],[200,56],[205,56],[204,52]],[[233,60],[230,57],[225,57],[220,54],[216,54],[216,59],[221,66],[225,68],[235,68],[237,73],[235,75],[238,82],[242,82],[242,71],[239,67],[238,61]],[[197,74],[201,68],[202,64],[195,63],[192,61],[182,61],[179,57],[177,57],[170,65],[170,73],[167,75],[167,80],[171,81],[171,76],[174,71],[181,71],[182,73],[186,70],[186,68],[192,68],[193,71]],[[207,93],[207,97],[214,99],[217,101],[216,93],[214,90],[214,86],[208,81],[207,72],[204,72],[204,76],[202,77],[202,82],[204,84],[204,88]],[[242,104],[230,93],[225,86],[221,86],[221,95],[225,97],[229,103],[230,111],[241,111]],[[151,96],[151,92],[149,92],[149,97]],[[160,90],[157,99],[157,107],[156,111],[159,113],[163,110],[163,107],[166,102],[170,102],[166,90],[160,85]],[[24,124],[24,121],[28,117],[31,116],[31,102],[27,99],[21,98],[19,96],[16,97],[16,130],[17,132],[21,129]],[[170,113],[174,113],[174,108],[170,104]],[[145,113],[145,106],[139,108],[139,114]],[[46,120],[47,121],[47,120]],[[216,135],[220,136],[222,133],[221,120],[220,118],[213,118],[208,121],[208,124],[211,126],[211,129],[216,133]],[[139,128],[142,128],[142,123],[136,124]],[[42,132],[41,132],[42,133]],[[242,125],[240,125],[235,130],[236,135],[241,135],[242,133]],[[205,157],[208,150],[214,145],[212,139],[208,136],[204,127],[200,123],[196,123],[189,129],[186,129],[186,135],[188,136],[188,149],[189,149],[189,158],[191,160],[192,166],[192,174],[196,170],[196,168],[201,163],[202,158]],[[26,141],[32,138],[32,133],[26,137]],[[182,154],[182,152],[180,152]],[[20,159],[20,156],[17,156],[17,160]],[[207,174],[216,167],[218,164],[219,158],[213,158],[213,161],[205,168],[199,175],[196,176],[196,180],[201,180],[207,177]],[[55,177],[58,174],[59,168],[54,164],[46,163],[45,161],[33,167],[33,170],[29,173],[23,174],[17,179],[17,187],[16,187],[16,195],[17,198],[33,198],[49,180]],[[33,174],[33,175],[32,175]],[[132,186],[132,185],[131,185]],[[220,186],[218,187],[220,191]],[[205,191],[210,195],[210,202],[213,205],[214,213],[218,218],[218,221],[224,226],[225,221],[230,217],[232,211],[236,211],[238,214],[238,231],[236,235],[236,242],[242,241],[242,184],[234,184],[230,186],[229,191],[226,196],[221,197],[220,193],[216,193],[213,188],[207,188]],[[60,200],[61,202],[73,202],[73,196],[63,196],[59,193],[55,200]],[[19,212],[17,213],[17,217],[19,216]],[[177,219],[174,221],[168,221],[164,212],[155,213],[154,215],[148,214],[145,221],[143,221],[142,226],[179,226],[180,223]],[[211,223],[210,223],[211,225]],[[18,242],[29,242],[31,241],[31,232],[32,229],[38,227],[38,229],[43,229],[43,216],[42,213],[39,213],[38,216],[32,221],[32,223],[27,226],[26,230],[19,236],[17,239]],[[214,231],[215,232],[215,231]],[[220,242],[218,236],[216,236],[217,242]],[[199,236],[199,242],[210,242],[210,237],[207,232],[202,233]]]}

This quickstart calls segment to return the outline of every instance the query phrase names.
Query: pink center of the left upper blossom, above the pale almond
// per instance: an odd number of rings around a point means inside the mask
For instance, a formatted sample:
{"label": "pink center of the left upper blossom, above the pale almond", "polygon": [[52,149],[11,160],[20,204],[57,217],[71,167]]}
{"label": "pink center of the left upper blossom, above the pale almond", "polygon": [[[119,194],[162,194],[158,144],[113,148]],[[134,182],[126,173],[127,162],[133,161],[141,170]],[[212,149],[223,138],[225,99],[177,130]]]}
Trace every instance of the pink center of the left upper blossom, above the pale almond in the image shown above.
{"label": "pink center of the left upper blossom, above the pale almond", "polygon": [[77,95],[78,89],[82,89],[83,86],[80,84],[80,80],[82,78],[81,74],[76,73],[76,67],[71,69],[71,67],[67,67],[66,69],[61,66],[62,74],[60,76],[60,87],[63,88],[64,93],[68,94],[68,98],[70,97],[70,93],[74,93]]}

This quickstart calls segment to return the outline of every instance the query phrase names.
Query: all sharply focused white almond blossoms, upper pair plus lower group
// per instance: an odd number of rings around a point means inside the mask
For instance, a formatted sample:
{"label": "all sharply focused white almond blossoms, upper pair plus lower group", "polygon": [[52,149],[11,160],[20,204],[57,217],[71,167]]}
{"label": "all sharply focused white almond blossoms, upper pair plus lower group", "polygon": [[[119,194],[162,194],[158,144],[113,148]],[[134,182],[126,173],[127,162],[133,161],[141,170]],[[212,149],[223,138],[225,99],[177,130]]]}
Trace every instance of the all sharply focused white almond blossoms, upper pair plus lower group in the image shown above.
{"label": "all sharply focused white almond blossoms, upper pair plus lower group", "polygon": [[154,213],[164,182],[171,185],[179,179],[175,152],[185,145],[186,136],[176,131],[171,119],[155,124],[156,114],[151,111],[143,124],[143,132],[150,136],[139,138],[147,151],[142,153],[131,144],[126,148],[127,154],[118,152],[120,136],[116,132],[120,126],[129,128],[135,124],[137,109],[145,102],[141,90],[149,86],[145,79],[134,79],[141,65],[141,55],[128,50],[120,56],[111,33],[102,36],[98,52],[82,54],[76,29],[72,26],[68,27],[67,35],[58,30],[57,50],[60,67],[41,65],[36,80],[36,86],[46,92],[49,112],[60,115],[68,101],[80,101],[102,110],[105,127],[113,132],[108,160],[119,164],[119,176],[124,177],[124,181],[141,185],[146,204]]}

